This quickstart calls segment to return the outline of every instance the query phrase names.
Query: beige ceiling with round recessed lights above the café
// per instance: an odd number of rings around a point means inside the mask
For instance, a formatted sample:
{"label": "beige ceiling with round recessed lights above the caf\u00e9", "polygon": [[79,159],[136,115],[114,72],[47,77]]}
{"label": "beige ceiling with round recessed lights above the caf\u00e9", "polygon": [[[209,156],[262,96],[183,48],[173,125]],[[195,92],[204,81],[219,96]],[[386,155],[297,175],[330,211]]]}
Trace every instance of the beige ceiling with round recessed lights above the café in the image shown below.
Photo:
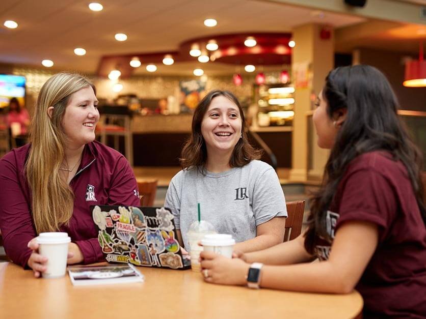
{"label": "beige ceiling with round recessed lights above the caf\u00e9", "polygon": [[[15,30],[0,26],[0,63],[40,66],[42,59],[49,58],[55,68],[93,73],[103,55],[175,51],[181,42],[192,38],[291,32],[299,24],[312,22],[342,27],[366,21],[256,0],[100,2],[104,9],[92,12],[87,0],[0,0],[0,21],[14,19],[19,23]],[[216,18],[218,26],[205,27],[203,20],[207,17]],[[128,40],[116,41],[117,32],[126,33]],[[75,47],[85,48],[87,54],[76,56]],[[191,69],[196,63],[190,65]],[[214,66],[211,64],[211,68]],[[179,66],[173,68],[178,70]]]}

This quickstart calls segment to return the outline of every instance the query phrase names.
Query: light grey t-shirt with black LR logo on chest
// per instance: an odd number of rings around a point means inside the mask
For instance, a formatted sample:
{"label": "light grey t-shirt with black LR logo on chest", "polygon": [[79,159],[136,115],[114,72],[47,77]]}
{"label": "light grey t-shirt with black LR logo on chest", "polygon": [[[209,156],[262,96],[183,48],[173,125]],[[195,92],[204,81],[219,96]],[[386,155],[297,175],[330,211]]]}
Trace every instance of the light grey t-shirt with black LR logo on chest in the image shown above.
{"label": "light grey t-shirt with black LR logo on chest", "polygon": [[197,168],[179,171],[170,182],[164,206],[174,215],[188,247],[187,232],[198,218],[212,223],[236,242],[256,237],[256,226],[274,217],[287,217],[284,193],[271,165],[253,160],[243,167],[203,175]]}

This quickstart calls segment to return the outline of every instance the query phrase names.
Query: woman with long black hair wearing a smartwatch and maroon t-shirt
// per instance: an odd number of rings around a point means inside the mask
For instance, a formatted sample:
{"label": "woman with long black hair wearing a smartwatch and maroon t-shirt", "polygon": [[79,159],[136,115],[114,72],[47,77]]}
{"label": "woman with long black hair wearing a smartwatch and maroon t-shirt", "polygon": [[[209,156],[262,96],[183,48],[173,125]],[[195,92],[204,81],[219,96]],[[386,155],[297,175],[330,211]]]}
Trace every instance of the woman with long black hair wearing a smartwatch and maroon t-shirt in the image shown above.
{"label": "woman with long black hair wearing a smartwatch and maroon t-shirt", "polygon": [[[331,71],[313,115],[318,146],[331,153],[307,231],[232,260],[203,252],[205,280],[320,293],[356,288],[365,317],[424,317],[422,159],[397,107],[377,69]],[[314,258],[321,262],[309,263]]]}

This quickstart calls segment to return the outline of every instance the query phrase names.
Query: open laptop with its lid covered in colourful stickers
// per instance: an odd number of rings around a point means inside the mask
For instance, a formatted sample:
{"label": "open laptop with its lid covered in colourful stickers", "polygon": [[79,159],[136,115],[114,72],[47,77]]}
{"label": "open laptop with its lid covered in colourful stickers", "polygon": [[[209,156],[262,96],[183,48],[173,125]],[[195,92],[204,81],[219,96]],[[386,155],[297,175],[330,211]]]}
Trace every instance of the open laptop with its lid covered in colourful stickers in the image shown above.
{"label": "open laptop with its lid covered in colourful stickers", "polygon": [[108,205],[90,208],[108,262],[170,269],[191,267],[180,251],[173,214],[168,209]]}

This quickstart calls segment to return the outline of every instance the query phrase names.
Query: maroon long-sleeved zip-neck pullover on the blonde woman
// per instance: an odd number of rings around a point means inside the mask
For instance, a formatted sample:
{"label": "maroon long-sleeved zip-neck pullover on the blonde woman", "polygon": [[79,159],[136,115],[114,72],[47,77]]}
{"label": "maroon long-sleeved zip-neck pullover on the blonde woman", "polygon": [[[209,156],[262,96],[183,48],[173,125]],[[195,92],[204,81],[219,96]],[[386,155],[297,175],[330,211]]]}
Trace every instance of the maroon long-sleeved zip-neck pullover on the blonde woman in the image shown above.
{"label": "maroon long-sleeved zip-neck pullover on the blonde woman", "polygon": [[[32,250],[28,242],[37,236],[31,214],[31,192],[25,178],[30,144],[14,149],[0,160],[0,229],[6,254],[26,266]],[[91,205],[139,206],[138,185],[126,158],[99,142],[86,144],[81,164],[70,182],[74,210],[63,226],[84,256],[84,263],[103,260]]]}

